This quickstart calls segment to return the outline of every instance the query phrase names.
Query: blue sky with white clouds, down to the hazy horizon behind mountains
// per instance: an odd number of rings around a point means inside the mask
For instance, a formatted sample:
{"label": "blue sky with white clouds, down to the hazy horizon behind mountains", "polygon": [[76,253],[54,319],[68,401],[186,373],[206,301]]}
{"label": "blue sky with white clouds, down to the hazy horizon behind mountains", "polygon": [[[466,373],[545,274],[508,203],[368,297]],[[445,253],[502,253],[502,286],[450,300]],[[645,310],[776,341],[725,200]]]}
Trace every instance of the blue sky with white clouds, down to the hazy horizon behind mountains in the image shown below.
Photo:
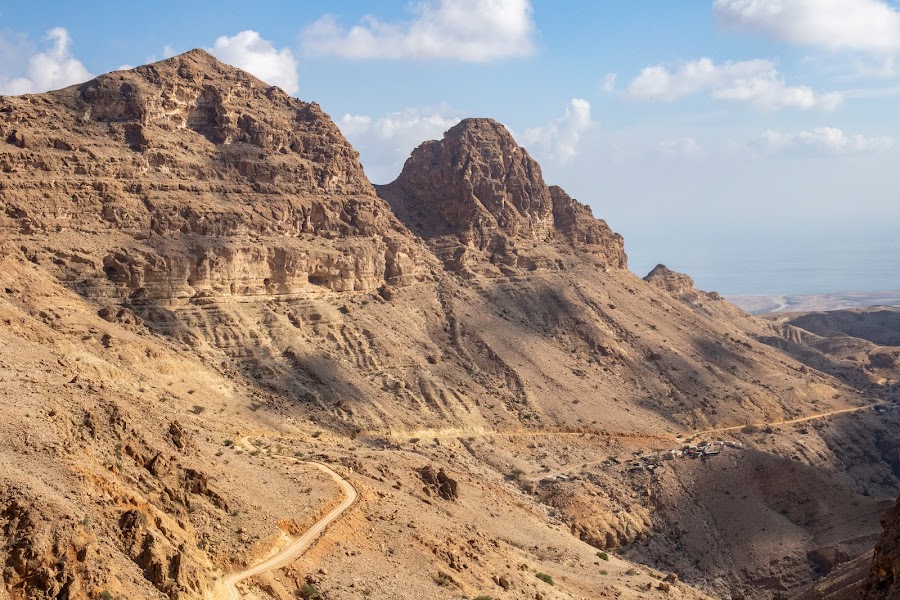
{"label": "blue sky with white clouds, down to the hazy horizon behind mountains", "polygon": [[893,0],[72,6],[0,0],[0,93],[206,48],[319,102],[377,183],[462,117],[503,122],[639,274],[900,288]]}

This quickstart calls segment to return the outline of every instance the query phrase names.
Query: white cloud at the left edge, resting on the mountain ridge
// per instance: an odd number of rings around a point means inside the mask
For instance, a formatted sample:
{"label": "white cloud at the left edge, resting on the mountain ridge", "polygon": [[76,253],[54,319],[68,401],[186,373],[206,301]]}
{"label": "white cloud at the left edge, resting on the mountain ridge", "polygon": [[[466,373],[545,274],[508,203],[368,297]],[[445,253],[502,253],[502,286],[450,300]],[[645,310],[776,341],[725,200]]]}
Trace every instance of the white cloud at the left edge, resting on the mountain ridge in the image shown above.
{"label": "white cloud at the left edge, resting on the mountain ridge", "polygon": [[[54,27],[44,39],[50,42],[50,48],[31,54],[26,61],[24,73],[0,72],[0,93],[15,95],[46,92],[93,77],[81,61],[72,56],[72,39],[68,31],[62,27]],[[9,66],[6,65],[7,68]],[[0,70],[3,69],[0,66]]]}

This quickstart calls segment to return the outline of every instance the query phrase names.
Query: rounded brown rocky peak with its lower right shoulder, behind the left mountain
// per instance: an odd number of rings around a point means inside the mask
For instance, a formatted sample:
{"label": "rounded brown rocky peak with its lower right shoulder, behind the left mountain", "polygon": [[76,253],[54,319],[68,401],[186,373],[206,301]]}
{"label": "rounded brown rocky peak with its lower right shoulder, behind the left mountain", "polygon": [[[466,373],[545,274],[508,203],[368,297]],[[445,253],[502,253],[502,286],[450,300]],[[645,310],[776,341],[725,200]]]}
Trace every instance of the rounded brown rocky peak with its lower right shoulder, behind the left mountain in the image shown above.
{"label": "rounded brown rocky peak with its lower right shoulder, behind the left mountain", "polygon": [[465,119],[442,140],[425,142],[378,192],[451,270],[552,268],[558,261],[543,244],[558,242],[625,266],[621,236],[548,187],[537,162],[491,119]]}

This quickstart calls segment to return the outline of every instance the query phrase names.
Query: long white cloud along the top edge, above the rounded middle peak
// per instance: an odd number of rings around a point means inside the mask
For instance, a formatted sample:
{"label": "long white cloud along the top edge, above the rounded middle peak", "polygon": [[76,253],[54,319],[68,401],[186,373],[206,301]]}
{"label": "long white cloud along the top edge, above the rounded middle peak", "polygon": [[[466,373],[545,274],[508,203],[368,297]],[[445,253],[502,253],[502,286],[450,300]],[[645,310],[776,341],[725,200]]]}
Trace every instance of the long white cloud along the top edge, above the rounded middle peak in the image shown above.
{"label": "long white cloud along the top edge, above the rounded middle peak", "polygon": [[534,52],[529,0],[425,0],[413,18],[386,23],[367,16],[347,29],[325,15],[303,32],[311,54],[352,59],[454,59],[467,62]]}

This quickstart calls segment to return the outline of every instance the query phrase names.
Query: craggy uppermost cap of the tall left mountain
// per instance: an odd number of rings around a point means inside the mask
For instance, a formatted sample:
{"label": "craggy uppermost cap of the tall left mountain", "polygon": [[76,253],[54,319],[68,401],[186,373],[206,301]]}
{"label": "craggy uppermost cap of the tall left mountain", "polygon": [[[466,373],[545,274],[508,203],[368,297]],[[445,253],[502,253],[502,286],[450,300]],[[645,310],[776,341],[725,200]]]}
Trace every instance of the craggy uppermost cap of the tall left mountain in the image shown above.
{"label": "craggy uppermost cap of the tall left mountain", "polygon": [[264,162],[278,157],[301,162],[291,165],[290,175],[306,180],[307,189],[373,194],[358,153],[318,104],[291,98],[204,50],[101,75],[54,95],[82,120],[121,132],[136,151],[163,145],[167,134],[192,132],[200,137],[184,143],[212,144],[245,170],[263,172],[264,180],[270,178]]}

